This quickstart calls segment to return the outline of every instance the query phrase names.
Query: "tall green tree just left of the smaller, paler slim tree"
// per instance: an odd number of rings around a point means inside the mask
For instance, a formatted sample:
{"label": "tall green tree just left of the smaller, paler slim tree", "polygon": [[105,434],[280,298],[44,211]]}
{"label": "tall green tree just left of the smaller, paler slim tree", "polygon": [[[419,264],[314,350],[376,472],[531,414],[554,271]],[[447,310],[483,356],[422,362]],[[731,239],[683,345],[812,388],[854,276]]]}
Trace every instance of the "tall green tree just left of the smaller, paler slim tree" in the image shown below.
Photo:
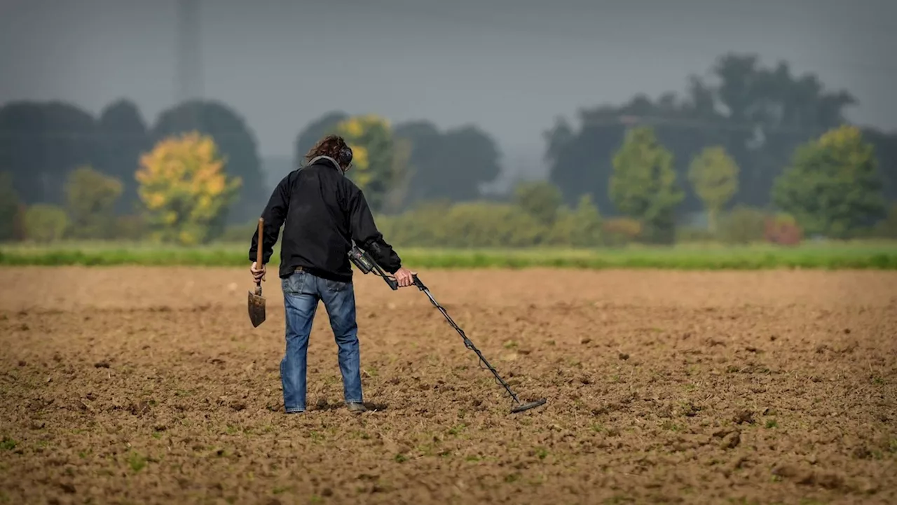
{"label": "tall green tree just left of the smaller, paler slim tree", "polygon": [[621,213],[645,225],[645,239],[675,239],[675,207],[684,191],[676,185],[673,155],[649,127],[633,128],[613,159],[609,193]]}

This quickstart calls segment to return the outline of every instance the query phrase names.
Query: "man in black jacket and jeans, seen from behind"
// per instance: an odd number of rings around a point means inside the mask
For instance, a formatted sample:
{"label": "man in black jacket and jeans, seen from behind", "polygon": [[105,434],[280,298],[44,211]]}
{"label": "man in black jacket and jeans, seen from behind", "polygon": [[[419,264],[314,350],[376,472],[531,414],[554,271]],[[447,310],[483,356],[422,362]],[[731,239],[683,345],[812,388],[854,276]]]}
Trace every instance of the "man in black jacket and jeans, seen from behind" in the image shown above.
{"label": "man in black jacket and jeans, seen from behind", "polygon": [[249,247],[249,271],[258,282],[274,253],[281,225],[283,243],[279,276],[286,315],[286,352],[281,361],[283,407],[288,414],[305,412],[306,359],[311,324],[324,301],[338,346],[343,395],[348,409],[364,412],[355,293],[348,253],[352,240],[379,266],[393,274],[400,287],[414,283],[392,247],[377,230],[361,189],[344,172],[352,166],[352,149],[342,137],[328,135],[306,155],[308,165],[293,170],[274,188],[262,217],[261,263],[256,257],[258,232]]}

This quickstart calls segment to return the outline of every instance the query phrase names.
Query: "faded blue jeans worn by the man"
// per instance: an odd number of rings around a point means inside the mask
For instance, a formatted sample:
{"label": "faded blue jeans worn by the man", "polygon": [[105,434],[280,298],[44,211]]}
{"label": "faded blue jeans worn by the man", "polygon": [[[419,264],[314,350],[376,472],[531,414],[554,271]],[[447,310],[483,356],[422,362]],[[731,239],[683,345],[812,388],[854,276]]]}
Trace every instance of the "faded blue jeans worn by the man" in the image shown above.
{"label": "faded blue jeans worn by the man", "polygon": [[299,271],[281,279],[281,285],[286,312],[286,352],[280,368],[286,412],[305,410],[309,334],[318,300],[324,301],[339,348],[337,356],[343,375],[344,400],[346,403],[361,402],[361,358],[353,283],[330,281]]}

